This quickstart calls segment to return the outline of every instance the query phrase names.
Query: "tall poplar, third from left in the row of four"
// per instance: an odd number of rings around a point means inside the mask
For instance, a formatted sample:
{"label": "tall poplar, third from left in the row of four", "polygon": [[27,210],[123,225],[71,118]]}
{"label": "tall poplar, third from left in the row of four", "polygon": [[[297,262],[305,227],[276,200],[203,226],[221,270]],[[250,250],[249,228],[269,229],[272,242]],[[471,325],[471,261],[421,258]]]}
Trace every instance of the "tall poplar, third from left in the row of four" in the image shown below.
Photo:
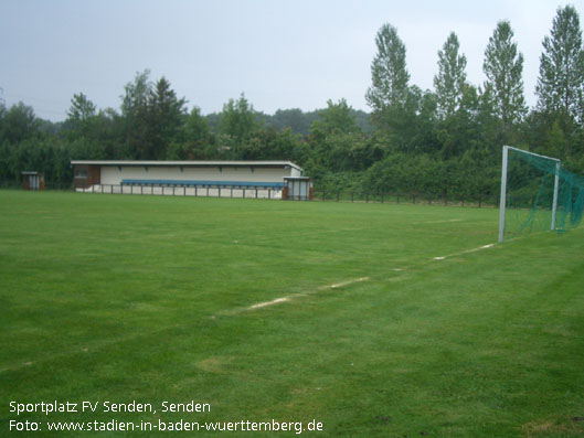
{"label": "tall poplar, third from left in the row of four", "polygon": [[523,54],[513,42],[513,30],[509,21],[497,23],[485,51],[482,70],[487,75],[486,88],[492,89],[497,114],[503,129],[508,129],[527,114],[522,78]]}

